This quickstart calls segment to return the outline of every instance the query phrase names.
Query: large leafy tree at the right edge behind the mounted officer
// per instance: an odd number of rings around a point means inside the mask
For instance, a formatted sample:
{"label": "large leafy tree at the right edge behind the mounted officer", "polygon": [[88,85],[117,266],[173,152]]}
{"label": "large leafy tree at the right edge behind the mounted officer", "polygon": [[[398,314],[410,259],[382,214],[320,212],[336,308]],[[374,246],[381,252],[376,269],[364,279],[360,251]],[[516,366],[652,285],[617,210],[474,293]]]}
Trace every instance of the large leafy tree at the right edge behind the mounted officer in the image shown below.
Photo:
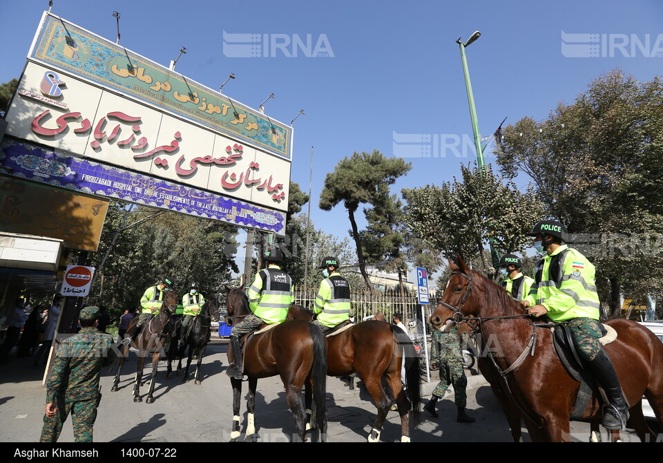
{"label": "large leafy tree at the right edge behind the mounted officer", "polygon": [[[504,129],[496,151],[508,178],[524,174],[597,267],[613,316],[620,294],[663,290],[663,81],[613,70],[547,120],[524,117]],[[577,236],[579,234],[579,236]]]}

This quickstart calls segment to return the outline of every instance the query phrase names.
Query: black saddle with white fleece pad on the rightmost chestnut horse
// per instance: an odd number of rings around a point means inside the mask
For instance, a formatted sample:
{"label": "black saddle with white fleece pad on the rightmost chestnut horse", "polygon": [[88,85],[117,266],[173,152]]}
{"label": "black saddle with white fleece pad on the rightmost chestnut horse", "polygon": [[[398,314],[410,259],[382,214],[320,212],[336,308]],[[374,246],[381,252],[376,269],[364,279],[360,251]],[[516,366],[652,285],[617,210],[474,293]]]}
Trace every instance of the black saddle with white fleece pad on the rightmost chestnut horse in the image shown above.
{"label": "black saddle with white fleece pad on the rightmost chestnut horse", "polygon": [[[617,332],[610,326],[599,323],[599,328],[601,328],[602,333],[599,342],[602,345],[606,345],[617,339]],[[578,419],[582,417],[584,410],[586,410],[592,398],[592,389],[595,386],[594,377],[584,368],[584,362],[578,354],[575,343],[573,342],[573,336],[566,323],[553,323],[551,330],[553,331],[553,344],[557,352],[557,357],[559,357],[568,374],[580,383],[573,413],[570,416],[572,420]]]}

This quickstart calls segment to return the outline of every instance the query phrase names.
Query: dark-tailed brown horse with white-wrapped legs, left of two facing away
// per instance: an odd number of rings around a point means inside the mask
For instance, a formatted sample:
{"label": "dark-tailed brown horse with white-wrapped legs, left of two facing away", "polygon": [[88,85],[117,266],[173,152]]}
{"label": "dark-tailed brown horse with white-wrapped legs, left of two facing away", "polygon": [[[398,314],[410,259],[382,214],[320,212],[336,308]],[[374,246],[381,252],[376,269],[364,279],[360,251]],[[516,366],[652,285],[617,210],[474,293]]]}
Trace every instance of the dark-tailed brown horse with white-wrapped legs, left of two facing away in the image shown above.
{"label": "dark-tailed brown horse with white-wrapped legs, left of two facing away", "polygon": [[[227,325],[238,323],[251,313],[249,299],[239,288],[228,290]],[[233,361],[232,350],[228,350],[229,363]],[[255,334],[244,352],[244,375],[249,377],[249,399],[247,400],[246,440],[257,440],[253,409],[256,405],[256,386],[259,378],[279,375],[288,406],[295,421],[294,440],[306,439],[306,416],[302,403],[302,388],[306,385],[314,401],[314,418],[320,440],[327,438],[327,343],[315,325],[301,320],[289,320],[261,334]],[[233,431],[231,442],[240,437],[240,399],[242,381],[231,378],[233,386]]]}

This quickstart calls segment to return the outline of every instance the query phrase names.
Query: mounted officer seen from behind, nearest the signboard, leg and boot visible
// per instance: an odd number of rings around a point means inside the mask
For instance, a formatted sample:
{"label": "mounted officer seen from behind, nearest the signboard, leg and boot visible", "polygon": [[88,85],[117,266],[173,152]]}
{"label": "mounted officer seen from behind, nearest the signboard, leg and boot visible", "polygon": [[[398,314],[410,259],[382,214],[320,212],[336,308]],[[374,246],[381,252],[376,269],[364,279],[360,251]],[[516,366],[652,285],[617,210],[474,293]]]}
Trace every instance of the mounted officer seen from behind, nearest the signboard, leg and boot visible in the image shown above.
{"label": "mounted officer seen from behind, nearest the signboard, leg and boot visible", "polygon": [[258,328],[262,323],[271,325],[285,321],[293,301],[293,285],[290,275],[281,270],[283,254],[278,247],[265,252],[267,268],[256,274],[249,287],[249,307],[252,314],[233,325],[230,332],[230,345],[233,349],[233,363],[226,370],[229,377],[242,379],[242,352],[240,337]]}

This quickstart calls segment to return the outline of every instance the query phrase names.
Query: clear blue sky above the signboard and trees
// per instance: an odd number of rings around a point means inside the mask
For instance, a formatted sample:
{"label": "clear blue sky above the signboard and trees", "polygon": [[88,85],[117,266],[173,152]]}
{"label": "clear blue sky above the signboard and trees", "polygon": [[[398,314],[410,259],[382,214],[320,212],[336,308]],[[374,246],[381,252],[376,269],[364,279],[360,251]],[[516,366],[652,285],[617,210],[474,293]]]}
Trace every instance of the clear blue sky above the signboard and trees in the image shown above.
{"label": "clear blue sky above the signboard and trees", "polygon": [[[0,82],[21,75],[47,9],[47,0],[0,0],[5,37]],[[475,159],[459,37],[465,41],[481,31],[467,57],[482,135],[491,135],[504,117],[506,124],[525,116],[545,119],[559,102],[573,102],[592,79],[614,68],[646,81],[663,64],[663,2],[657,0],[55,0],[52,8],[115,41],[113,11],[121,15],[119,43],[129,50],[168,66],[184,46],[187,53],[176,68],[182,75],[218,88],[235,73],[224,86],[226,95],[258,108],[274,93],[265,113],[287,124],[303,109],[305,115],[294,122],[291,180],[308,191],[314,147],[311,218],[339,237],[349,229],[345,210],[339,205],[321,211],[318,198],[325,175],[345,156],[374,149],[386,156],[412,155],[429,147],[429,158],[405,159],[412,171],[394,185],[399,195],[403,187],[452,180],[461,164]],[[269,35],[290,44],[262,47],[256,57],[233,57],[238,49],[229,45],[236,39],[228,36],[224,44],[224,32]],[[599,57],[582,56],[587,36],[563,39],[563,32],[596,34],[592,44]],[[292,43],[305,42],[307,35],[325,56],[309,57],[300,48],[292,56]],[[647,40],[648,46],[631,48]],[[564,44],[579,48],[563,49]],[[649,57],[643,48],[661,56]],[[445,140],[447,149],[428,140]]]}

